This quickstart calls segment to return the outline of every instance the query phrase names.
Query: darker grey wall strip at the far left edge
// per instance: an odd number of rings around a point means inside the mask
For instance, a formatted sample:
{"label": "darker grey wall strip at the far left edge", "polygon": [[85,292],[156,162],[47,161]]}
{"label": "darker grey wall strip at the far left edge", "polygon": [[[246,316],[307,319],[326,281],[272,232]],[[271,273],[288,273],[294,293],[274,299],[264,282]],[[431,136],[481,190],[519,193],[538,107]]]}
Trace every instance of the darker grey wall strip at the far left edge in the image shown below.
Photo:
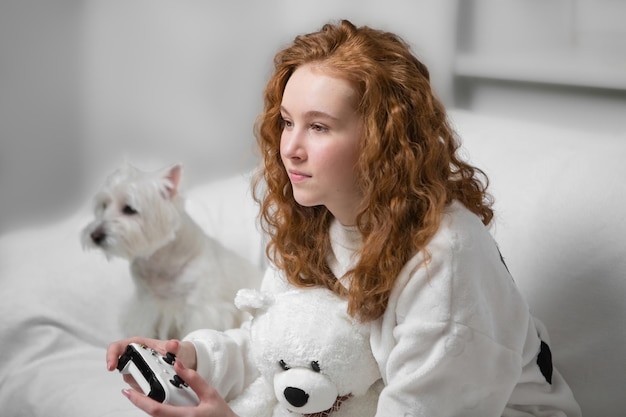
{"label": "darker grey wall strip at the far left edge", "polygon": [[81,13],[73,0],[0,1],[0,232],[76,202]]}

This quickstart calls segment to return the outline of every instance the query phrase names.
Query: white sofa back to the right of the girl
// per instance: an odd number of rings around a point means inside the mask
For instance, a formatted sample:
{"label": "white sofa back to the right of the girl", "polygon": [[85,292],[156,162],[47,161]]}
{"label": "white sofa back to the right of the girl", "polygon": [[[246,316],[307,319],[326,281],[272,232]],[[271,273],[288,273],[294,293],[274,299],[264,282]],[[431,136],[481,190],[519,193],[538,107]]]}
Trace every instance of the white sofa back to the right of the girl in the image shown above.
{"label": "white sofa back to the right of the girl", "polygon": [[583,415],[626,410],[626,137],[451,112],[493,234]]}

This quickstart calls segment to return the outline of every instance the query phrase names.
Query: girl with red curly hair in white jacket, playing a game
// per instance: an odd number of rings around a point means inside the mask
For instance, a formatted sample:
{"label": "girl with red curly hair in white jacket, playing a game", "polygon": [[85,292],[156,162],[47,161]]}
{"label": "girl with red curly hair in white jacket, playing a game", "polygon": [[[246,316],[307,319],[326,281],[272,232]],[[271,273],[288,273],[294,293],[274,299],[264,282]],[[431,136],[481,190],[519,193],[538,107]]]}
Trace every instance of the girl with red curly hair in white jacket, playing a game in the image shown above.
{"label": "girl with red curly hair in white jacket, playing a game", "polygon": [[[298,36],[275,57],[257,137],[263,288],[327,287],[371,322],[376,416],[580,416],[486,227],[486,178],[457,155],[428,71],[398,36],[348,21]],[[256,376],[247,337],[132,339],[176,353],[201,404],[124,393],[154,416],[232,416],[226,401]],[[110,346],[110,370],[129,341]]]}

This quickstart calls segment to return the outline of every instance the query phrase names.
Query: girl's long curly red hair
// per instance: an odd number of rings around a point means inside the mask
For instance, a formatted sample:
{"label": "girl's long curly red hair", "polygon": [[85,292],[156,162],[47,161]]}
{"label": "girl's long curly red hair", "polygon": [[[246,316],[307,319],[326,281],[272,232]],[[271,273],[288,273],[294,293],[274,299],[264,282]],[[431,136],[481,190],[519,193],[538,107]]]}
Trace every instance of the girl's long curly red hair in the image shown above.
{"label": "girl's long curly red hair", "polygon": [[[363,135],[356,171],[363,201],[356,209],[363,245],[347,290],[326,262],[333,216],[324,206],[296,203],[280,155],[285,85],[310,63],[350,82],[359,97]],[[458,200],[490,223],[488,179],[457,156],[460,144],[428,70],[398,36],[347,20],[298,36],[276,54],[264,100],[256,124],[264,164],[254,194],[270,237],[267,255],[291,284],[327,287],[347,296],[351,315],[374,320],[385,311],[402,267],[425,252],[446,205]]]}

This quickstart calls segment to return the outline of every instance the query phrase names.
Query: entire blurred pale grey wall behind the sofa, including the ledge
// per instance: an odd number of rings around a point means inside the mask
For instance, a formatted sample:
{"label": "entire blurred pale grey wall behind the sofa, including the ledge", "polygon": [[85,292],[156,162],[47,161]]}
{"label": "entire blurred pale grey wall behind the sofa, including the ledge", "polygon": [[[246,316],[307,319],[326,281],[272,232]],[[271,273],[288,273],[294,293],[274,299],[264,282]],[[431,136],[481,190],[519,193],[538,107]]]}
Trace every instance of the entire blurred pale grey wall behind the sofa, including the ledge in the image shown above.
{"label": "entire blurred pale grey wall behind the sofa, including the ledge", "polygon": [[2,0],[0,233],[125,159],[187,187],[252,168],[274,53],[340,18],[401,35],[451,109],[626,140],[624,0]]}

